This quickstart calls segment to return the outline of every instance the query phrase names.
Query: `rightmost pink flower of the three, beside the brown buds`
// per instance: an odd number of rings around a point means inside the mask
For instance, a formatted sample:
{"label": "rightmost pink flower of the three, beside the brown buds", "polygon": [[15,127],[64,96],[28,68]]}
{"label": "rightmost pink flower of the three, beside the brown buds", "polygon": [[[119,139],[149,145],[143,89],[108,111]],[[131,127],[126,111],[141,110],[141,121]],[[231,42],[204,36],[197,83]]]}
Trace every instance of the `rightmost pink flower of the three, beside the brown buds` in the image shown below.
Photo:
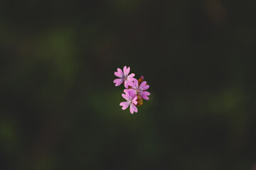
{"label": "rightmost pink flower of the three, beside the brown buds", "polygon": [[[139,82],[137,79],[134,79],[134,82],[132,83],[132,89],[135,90],[136,94],[144,98],[145,100],[149,100],[149,91],[145,91],[149,89],[149,85],[146,85],[146,81],[142,81],[142,84],[139,85]],[[129,89],[124,89],[124,93]]]}

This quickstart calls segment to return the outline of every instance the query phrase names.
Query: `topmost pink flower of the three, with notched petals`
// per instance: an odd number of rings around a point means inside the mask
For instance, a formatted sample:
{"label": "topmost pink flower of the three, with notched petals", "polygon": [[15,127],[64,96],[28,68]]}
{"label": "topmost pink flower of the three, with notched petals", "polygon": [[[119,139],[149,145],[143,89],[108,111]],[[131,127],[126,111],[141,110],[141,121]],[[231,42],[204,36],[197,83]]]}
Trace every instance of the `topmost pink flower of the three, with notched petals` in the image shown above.
{"label": "topmost pink flower of the three, with notched petals", "polygon": [[[115,86],[119,86],[124,82],[124,87],[128,88],[128,85],[132,84],[132,81],[134,80],[135,74],[129,74],[130,68],[124,66],[124,72],[122,72],[122,69],[117,69],[117,72],[114,72],[114,75],[116,77],[119,77],[119,79],[114,79]],[[129,74],[129,75],[128,75]]]}

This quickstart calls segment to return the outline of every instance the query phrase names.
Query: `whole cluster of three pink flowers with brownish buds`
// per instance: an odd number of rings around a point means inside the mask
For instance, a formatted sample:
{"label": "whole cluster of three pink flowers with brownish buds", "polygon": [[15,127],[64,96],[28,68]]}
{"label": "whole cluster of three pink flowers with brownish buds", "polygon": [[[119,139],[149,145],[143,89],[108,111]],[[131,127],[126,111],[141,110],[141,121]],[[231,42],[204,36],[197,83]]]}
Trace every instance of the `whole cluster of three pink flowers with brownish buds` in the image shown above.
{"label": "whole cluster of three pink flowers with brownish buds", "polygon": [[143,99],[149,100],[149,92],[146,91],[149,89],[149,85],[146,84],[146,81],[144,80],[144,77],[140,77],[139,80],[135,79],[135,74],[129,74],[130,68],[124,66],[124,69],[117,69],[117,72],[114,72],[114,75],[116,77],[119,77],[118,79],[114,79],[115,86],[119,86],[121,84],[124,84],[124,94],[122,94],[122,97],[126,100],[124,102],[120,103],[120,106],[122,106],[122,110],[125,110],[129,107],[129,111],[133,114],[134,112],[138,112],[138,109],[136,106],[142,106]]}

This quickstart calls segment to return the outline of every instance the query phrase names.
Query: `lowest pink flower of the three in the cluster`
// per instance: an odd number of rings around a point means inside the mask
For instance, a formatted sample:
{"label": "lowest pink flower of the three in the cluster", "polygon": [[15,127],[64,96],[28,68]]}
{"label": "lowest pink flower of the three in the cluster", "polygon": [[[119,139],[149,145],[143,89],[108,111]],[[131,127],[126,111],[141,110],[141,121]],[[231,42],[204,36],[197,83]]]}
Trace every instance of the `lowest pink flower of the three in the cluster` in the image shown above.
{"label": "lowest pink flower of the three in the cluster", "polygon": [[137,105],[137,96],[133,89],[128,89],[125,94],[122,94],[122,97],[127,100],[120,103],[122,106],[122,110],[125,110],[130,106],[130,112],[133,114],[134,112],[138,112],[138,109],[135,105]]}

